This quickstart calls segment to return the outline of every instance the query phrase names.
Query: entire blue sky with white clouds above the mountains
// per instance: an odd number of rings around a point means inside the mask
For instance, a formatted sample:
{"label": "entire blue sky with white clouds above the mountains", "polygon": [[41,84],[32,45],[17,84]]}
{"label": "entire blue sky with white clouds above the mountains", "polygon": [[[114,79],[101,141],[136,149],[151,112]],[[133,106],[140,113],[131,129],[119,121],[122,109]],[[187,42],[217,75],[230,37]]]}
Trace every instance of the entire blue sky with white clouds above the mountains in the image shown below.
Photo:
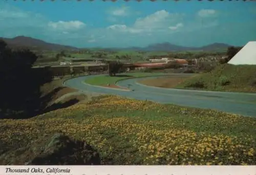
{"label": "entire blue sky with white clouds above the mountains", "polygon": [[77,47],[202,46],[256,40],[256,3],[243,1],[2,1],[0,37]]}

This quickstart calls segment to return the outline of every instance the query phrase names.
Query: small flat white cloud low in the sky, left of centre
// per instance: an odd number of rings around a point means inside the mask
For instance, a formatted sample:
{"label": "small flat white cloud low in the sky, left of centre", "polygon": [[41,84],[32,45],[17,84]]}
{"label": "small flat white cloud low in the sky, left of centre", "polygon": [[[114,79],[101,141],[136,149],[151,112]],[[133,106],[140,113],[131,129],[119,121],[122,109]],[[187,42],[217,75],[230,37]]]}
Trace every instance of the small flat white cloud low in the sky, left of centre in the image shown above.
{"label": "small flat white cloud low in the sky, left of centre", "polygon": [[86,27],[86,24],[81,21],[78,21],[78,20],[57,21],[57,22],[50,21],[48,23],[48,27],[50,27],[54,30],[78,30],[78,29]]}

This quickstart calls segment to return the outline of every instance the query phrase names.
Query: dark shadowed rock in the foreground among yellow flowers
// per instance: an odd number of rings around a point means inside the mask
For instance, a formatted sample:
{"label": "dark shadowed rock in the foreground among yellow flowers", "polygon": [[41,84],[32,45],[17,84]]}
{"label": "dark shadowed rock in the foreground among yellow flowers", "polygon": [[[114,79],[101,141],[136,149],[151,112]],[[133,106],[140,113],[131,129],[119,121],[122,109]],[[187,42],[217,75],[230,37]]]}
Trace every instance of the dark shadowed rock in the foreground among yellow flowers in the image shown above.
{"label": "dark shadowed rock in the foreground among yellow flowers", "polygon": [[[38,150],[41,148],[38,148]],[[96,150],[84,141],[74,140],[62,133],[54,134],[42,153],[26,165],[100,165]]]}

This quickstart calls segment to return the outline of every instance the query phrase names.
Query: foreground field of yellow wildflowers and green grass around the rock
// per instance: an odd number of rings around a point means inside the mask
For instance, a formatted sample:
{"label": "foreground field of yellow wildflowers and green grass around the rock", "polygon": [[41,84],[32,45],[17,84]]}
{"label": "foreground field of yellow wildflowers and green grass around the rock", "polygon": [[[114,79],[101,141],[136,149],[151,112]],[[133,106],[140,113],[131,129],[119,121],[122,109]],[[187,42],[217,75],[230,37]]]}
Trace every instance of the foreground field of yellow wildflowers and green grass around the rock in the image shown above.
{"label": "foreground field of yellow wildflowers and green grass around the rock", "polygon": [[[256,164],[256,118],[117,96],[31,119],[1,120],[0,130],[0,154],[6,155],[62,131],[94,146],[102,164]],[[0,163],[7,163],[1,155]]]}

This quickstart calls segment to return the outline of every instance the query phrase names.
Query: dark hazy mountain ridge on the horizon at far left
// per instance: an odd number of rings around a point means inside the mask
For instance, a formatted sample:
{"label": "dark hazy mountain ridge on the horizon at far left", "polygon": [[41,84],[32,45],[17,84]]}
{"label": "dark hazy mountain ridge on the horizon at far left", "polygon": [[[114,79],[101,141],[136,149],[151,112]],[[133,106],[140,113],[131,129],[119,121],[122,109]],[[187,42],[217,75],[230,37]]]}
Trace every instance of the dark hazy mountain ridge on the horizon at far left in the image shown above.
{"label": "dark hazy mountain ridge on the horizon at far left", "polygon": [[44,49],[44,50],[66,50],[66,49],[77,49],[76,47],[53,44],[45,42],[39,39],[26,37],[26,36],[17,36],[15,38],[0,38],[3,39],[10,47],[28,47],[30,49]]}

